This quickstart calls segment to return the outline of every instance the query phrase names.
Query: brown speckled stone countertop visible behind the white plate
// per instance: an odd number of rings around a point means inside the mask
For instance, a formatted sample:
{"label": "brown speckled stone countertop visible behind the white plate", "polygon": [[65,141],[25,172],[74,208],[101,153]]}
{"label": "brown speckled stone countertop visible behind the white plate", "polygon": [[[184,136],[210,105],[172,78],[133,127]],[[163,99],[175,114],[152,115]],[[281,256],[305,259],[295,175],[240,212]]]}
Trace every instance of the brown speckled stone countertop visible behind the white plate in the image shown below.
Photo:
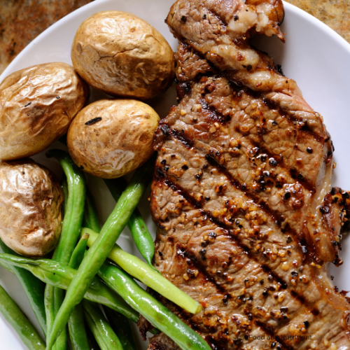
{"label": "brown speckled stone countertop visible behind the white plate", "polygon": [[[93,0],[6,0],[0,6],[0,73],[38,34]],[[143,0],[145,1],[145,0]],[[350,0],[287,0],[350,43]]]}

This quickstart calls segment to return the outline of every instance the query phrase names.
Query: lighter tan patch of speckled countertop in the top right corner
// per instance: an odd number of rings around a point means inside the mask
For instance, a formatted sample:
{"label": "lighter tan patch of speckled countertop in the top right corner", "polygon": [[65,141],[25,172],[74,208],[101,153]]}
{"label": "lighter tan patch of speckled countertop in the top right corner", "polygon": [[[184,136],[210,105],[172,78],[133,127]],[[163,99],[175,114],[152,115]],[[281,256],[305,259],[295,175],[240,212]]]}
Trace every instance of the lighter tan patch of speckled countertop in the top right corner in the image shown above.
{"label": "lighter tan patch of speckled countertop in the top right corner", "polygon": [[337,31],[350,43],[350,0],[286,0]]}

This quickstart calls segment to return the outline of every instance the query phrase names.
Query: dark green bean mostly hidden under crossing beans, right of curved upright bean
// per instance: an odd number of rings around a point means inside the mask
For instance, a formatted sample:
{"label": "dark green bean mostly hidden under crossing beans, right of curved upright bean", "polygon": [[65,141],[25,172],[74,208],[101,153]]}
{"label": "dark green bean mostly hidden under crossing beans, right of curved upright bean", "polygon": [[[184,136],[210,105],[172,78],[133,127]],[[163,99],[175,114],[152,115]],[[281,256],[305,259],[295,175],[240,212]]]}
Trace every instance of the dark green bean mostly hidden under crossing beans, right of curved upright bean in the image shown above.
{"label": "dark green bean mostly hidden under crossing beans, right of curved upright bean", "polygon": [[[89,235],[84,234],[80,241],[78,241],[78,244],[71,255],[71,260],[69,261],[69,267],[72,269],[79,267],[80,262],[83,261],[88,238]],[[84,324],[83,305],[81,303],[74,307],[71,316],[69,317],[68,330],[73,350],[86,350],[89,348]]]}

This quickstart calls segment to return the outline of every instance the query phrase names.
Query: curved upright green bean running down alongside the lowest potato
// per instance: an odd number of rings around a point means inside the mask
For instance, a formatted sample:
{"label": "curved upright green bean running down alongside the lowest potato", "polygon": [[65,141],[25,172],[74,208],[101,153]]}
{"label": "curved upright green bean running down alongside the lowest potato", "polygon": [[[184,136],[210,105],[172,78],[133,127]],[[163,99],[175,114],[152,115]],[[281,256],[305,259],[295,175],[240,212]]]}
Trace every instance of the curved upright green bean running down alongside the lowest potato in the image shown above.
{"label": "curved upright green bean running down alongside the lowest potato", "polygon": [[[68,198],[64,203],[64,219],[62,223],[61,238],[52,260],[62,262],[64,265],[69,263],[71,253],[78,240],[81,224],[83,222],[84,204],[85,204],[85,176],[83,172],[76,167],[69,154],[62,150],[51,150],[46,153],[48,158],[55,157],[64,170],[66,182],[68,185]],[[52,290],[52,286],[45,288],[45,310],[48,320],[48,337],[55,321],[55,317],[64,302],[64,290],[57,288]],[[62,328],[62,336],[58,337],[56,350],[67,349],[66,329]]]}

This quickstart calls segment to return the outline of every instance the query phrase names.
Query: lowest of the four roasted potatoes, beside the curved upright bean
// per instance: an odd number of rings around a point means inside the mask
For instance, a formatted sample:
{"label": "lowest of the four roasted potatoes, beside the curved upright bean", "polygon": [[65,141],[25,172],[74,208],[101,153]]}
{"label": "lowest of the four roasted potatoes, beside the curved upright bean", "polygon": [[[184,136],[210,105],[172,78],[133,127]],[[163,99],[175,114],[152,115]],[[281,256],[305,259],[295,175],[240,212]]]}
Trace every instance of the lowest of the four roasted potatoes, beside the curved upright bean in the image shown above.
{"label": "lowest of the four roasted potatoes, beside the curved upright bean", "polygon": [[38,258],[58,243],[63,193],[55,176],[30,159],[0,162],[0,237],[19,254]]}

